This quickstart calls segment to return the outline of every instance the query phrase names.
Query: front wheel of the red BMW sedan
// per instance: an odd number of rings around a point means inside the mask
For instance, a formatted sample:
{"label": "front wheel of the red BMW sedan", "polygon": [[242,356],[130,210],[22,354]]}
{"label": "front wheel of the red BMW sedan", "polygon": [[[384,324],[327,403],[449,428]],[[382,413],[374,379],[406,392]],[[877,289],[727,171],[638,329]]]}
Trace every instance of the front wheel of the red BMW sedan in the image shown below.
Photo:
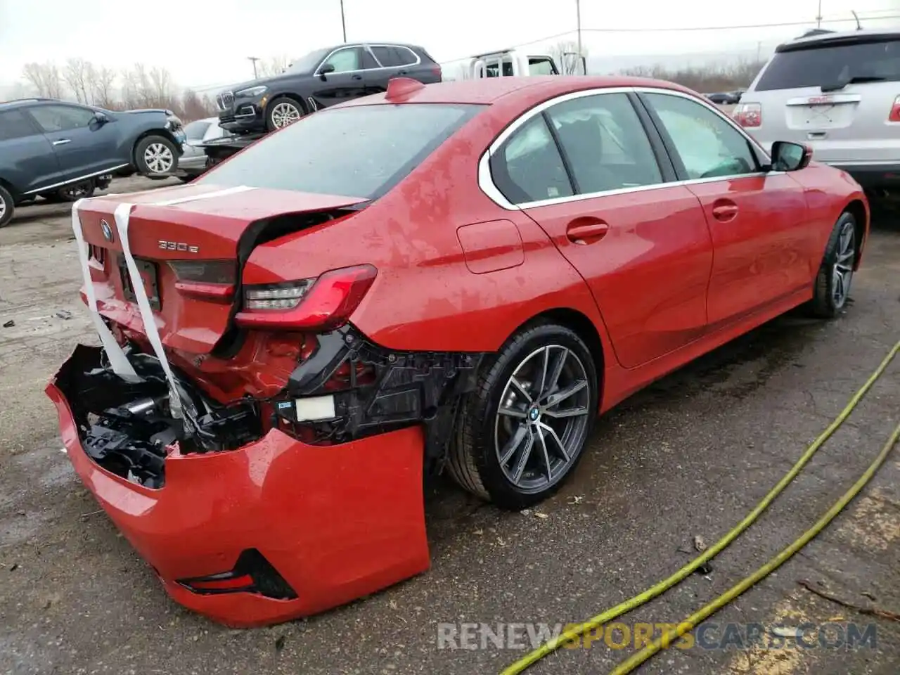
{"label": "front wheel of the red BMW sedan", "polygon": [[815,277],[810,313],[819,319],[833,319],[847,304],[856,261],[856,218],[843,212],[825,244],[822,266]]}

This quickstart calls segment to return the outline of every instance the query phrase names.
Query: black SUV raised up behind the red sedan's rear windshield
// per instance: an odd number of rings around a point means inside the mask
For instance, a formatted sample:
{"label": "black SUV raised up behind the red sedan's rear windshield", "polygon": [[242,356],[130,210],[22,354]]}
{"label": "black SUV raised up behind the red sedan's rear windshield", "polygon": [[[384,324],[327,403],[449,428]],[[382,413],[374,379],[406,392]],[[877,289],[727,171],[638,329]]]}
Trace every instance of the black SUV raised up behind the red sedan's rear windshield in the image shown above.
{"label": "black SUV raised up behind the red sedan's rear windshield", "polygon": [[216,96],[219,125],[233,133],[281,129],[308,112],[387,89],[392,77],[429,85],[441,67],[425,49],[396,42],[348,43],[317,49],[282,75],[252,80]]}

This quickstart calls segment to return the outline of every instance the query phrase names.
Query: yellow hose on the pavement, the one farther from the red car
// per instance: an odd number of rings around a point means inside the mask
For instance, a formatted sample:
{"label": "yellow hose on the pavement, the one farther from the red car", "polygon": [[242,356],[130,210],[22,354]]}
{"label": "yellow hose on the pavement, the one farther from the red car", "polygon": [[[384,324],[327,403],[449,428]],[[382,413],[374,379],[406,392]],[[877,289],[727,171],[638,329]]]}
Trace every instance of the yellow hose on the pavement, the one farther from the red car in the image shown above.
{"label": "yellow hose on the pavement, the one farther from the red car", "polygon": [[884,464],[887,455],[890,454],[891,449],[896,444],[897,438],[900,438],[900,424],[894,428],[894,433],[887,439],[887,443],[881,448],[881,452],[878,453],[875,461],[872,462],[872,464],[869,464],[866,473],[863,473],[860,476],[860,480],[853,483],[851,489],[844,492],[841,499],[834,502],[833,507],[828,509],[824,516],[819,518],[815,525],[806,530],[806,532],[804,532],[793,544],[788,545],[781,553],[772,558],[768,563],[762,565],[760,569],[753,572],[749,577],[734,584],[732,588],[726,590],[725,593],[710,602],[706,607],[699,609],[694,612],[694,614],[684,619],[677,628],[666,632],[662,637],[645,646],[640,652],[633,654],[630,658],[626,659],[626,661],[619,663],[613,671],[610,671],[609,675],[626,675],[626,673],[634,671],[635,668],[653,656],[653,654],[659,652],[660,649],[662,649],[663,644],[672,644],[670,642],[671,640],[677,640],[681,635],[689,633],[694,629],[694,626],[697,626],[705,618],[715,614],[719,609],[724,608],[725,605],[738,598],[744,591],[750,589],[757,581],[761,581],[772,572],[775,572],[782,563],[785,563],[792,555],[796,554],[797,551],[809,544],[813,537],[822,532],[822,530],[824,530],[824,528],[832,522],[839,513],[841,513],[851,500],[866,487],[866,483],[872,480],[872,476],[875,475],[881,464]]}

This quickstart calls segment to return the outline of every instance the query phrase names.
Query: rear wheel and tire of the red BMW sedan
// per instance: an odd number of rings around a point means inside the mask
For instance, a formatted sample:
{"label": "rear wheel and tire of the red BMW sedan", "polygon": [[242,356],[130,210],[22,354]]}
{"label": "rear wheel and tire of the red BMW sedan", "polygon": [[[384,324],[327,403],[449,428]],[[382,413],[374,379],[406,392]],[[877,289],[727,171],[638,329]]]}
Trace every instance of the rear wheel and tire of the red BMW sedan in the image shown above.
{"label": "rear wheel and tire of the red BMW sedan", "polygon": [[552,323],[523,329],[466,397],[450,474],[503,509],[545,500],[581,459],[598,406],[597,369],[581,338]]}

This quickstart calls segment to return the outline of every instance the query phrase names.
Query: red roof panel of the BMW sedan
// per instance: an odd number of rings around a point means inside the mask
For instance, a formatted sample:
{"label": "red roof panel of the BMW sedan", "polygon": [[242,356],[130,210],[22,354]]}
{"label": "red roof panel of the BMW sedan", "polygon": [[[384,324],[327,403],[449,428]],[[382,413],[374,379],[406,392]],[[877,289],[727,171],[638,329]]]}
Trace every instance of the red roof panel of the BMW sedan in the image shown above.
{"label": "red roof panel of the BMW sedan", "polygon": [[480,103],[483,105],[495,103],[500,98],[505,99],[508,96],[521,98],[523,102],[534,100],[536,103],[569,92],[620,86],[652,86],[695,94],[687,87],[647,77],[584,75],[484,77],[423,85],[400,98],[389,99],[388,92],[373,94],[347,103],[340,103],[334,107],[344,108],[382,103]]}

